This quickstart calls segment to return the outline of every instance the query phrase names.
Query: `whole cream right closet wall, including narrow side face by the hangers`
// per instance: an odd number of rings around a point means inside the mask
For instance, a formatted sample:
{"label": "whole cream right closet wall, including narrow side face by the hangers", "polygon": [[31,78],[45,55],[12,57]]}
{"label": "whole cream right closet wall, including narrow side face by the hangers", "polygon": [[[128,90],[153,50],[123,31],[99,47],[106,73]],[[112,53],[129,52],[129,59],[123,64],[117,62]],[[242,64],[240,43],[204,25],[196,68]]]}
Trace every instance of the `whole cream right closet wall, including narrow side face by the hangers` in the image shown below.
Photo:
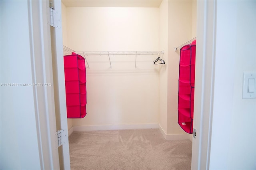
{"label": "whole cream right closet wall, including narrow side face by the hangers", "polygon": [[[168,51],[159,79],[159,124],[164,135],[186,134],[178,125],[180,51],[174,47],[196,36],[196,1],[163,1],[160,6],[160,46]],[[175,139],[168,137],[166,139]]]}

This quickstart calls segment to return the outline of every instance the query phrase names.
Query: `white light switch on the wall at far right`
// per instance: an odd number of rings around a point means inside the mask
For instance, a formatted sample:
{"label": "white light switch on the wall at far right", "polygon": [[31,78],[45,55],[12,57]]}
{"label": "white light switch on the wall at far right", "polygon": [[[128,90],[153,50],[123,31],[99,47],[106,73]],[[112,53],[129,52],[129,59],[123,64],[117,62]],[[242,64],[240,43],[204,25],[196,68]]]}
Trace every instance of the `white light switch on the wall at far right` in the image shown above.
{"label": "white light switch on the wall at far right", "polygon": [[256,85],[255,85],[256,74],[255,73],[244,73],[243,83],[243,99],[256,98]]}

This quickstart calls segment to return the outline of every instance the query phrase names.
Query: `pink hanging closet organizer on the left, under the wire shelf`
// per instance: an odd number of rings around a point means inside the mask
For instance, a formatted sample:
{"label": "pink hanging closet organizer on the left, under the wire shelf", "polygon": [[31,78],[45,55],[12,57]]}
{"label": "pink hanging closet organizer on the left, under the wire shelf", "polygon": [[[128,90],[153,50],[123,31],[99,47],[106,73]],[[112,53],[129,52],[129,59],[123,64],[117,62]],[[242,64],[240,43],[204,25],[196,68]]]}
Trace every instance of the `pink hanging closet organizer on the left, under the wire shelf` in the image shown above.
{"label": "pink hanging closet organizer on the left, under the wire shelf", "polygon": [[64,56],[66,106],[68,118],[86,115],[86,68],[84,57],[76,53]]}

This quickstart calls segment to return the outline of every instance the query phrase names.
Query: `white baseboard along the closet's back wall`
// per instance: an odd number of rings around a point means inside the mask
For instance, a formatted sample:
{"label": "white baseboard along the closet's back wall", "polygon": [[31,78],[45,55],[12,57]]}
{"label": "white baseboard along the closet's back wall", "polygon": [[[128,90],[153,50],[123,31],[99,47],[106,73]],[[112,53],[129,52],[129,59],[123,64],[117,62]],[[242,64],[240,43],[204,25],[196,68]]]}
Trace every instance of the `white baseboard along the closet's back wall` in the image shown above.
{"label": "white baseboard along the closet's back wall", "polygon": [[73,128],[73,131],[146,129],[146,128],[158,128],[158,124],[73,126],[72,128]]}

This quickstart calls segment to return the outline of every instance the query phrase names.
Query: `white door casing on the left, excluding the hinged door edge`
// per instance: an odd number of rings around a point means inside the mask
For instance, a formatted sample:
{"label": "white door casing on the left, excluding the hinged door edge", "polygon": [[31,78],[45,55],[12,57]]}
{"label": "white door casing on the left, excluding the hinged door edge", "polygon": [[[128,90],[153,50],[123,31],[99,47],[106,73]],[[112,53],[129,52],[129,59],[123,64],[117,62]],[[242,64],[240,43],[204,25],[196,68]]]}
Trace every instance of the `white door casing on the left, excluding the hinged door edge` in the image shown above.
{"label": "white door casing on the left, excluding the hinged door edge", "polygon": [[[52,79],[52,56],[46,21],[46,1],[28,1],[30,49],[33,83],[49,83]],[[46,22],[46,24],[44,24]],[[55,147],[56,118],[53,86],[34,87],[38,148],[42,169],[59,169]]]}

